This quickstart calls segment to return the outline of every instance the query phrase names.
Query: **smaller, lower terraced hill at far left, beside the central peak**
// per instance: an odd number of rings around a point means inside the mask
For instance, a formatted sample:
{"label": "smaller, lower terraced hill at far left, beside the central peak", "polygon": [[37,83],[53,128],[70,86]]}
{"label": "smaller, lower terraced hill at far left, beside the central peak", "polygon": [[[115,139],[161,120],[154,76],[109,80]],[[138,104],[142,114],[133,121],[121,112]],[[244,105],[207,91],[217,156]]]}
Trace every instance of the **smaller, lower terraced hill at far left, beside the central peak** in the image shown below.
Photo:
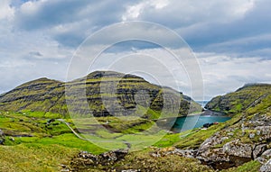
{"label": "smaller, lower terraced hill at far left, beside the central peak", "polygon": [[0,109],[65,114],[64,90],[64,83],[42,77],[0,95]]}

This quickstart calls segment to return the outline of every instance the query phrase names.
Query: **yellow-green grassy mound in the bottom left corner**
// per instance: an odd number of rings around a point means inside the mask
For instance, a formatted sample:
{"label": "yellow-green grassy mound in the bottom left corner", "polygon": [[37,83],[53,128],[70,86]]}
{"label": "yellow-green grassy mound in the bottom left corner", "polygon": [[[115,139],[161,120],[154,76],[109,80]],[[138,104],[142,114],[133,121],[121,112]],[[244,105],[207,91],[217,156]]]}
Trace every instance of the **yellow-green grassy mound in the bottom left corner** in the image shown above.
{"label": "yellow-green grassy mound in the bottom left corner", "polygon": [[0,146],[0,171],[60,171],[77,152],[57,144]]}

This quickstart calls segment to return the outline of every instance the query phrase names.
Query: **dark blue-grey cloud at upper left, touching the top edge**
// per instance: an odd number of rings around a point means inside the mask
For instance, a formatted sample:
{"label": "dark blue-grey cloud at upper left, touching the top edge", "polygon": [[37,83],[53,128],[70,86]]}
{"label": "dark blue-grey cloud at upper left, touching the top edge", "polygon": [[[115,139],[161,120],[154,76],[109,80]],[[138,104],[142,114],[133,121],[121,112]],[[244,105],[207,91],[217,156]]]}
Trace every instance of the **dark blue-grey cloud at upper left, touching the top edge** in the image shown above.
{"label": "dark blue-grey cloud at upper left, touching the top edge", "polygon": [[23,4],[16,11],[16,28],[43,30],[64,46],[77,47],[92,32],[121,22],[129,1],[54,0]]}

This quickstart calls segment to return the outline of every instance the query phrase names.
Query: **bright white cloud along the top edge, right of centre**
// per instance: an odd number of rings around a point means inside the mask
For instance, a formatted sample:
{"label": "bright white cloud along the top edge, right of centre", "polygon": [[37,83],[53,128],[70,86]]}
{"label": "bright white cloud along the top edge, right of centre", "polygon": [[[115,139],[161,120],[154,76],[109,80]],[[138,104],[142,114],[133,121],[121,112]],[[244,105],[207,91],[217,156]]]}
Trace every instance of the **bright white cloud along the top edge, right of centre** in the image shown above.
{"label": "bright white cloud along the top edge, right of centre", "polygon": [[[195,23],[229,23],[238,20],[254,7],[253,0],[216,1],[142,1],[126,8],[123,20],[151,20],[173,22],[179,26]],[[160,21],[159,21],[160,20]]]}

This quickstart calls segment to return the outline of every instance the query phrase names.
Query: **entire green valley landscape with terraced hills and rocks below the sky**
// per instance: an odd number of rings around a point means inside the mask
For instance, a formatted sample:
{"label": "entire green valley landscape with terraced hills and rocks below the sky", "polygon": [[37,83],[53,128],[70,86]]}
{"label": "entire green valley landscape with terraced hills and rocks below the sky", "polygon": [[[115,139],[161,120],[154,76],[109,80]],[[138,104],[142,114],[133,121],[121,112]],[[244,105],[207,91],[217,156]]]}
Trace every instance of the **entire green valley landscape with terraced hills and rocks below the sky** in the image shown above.
{"label": "entire green valley landscape with terraced hills and rocks below the sky", "polygon": [[[92,113],[73,95],[82,86]],[[216,116],[194,115],[201,113],[200,104],[163,88],[141,77],[97,71],[66,86],[41,78],[0,95],[0,171],[270,169],[271,85],[214,97],[205,108],[221,113]],[[174,106],[162,111],[164,101],[179,103],[178,112]],[[202,128],[219,118],[225,119]],[[185,122],[193,126],[185,129]]]}

